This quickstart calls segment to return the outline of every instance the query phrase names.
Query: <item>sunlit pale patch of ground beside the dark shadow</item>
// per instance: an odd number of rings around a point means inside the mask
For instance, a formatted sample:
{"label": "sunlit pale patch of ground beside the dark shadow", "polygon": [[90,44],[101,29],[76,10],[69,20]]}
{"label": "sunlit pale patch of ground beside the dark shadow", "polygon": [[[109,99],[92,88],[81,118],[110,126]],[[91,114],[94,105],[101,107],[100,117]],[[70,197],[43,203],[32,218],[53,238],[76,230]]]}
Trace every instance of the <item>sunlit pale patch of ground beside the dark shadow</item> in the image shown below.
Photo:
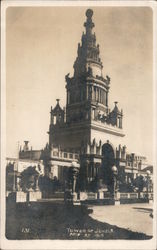
{"label": "sunlit pale patch of ground beside the dark shadow", "polygon": [[90,216],[98,221],[106,222],[133,232],[152,235],[152,204],[121,204],[118,206],[94,206]]}

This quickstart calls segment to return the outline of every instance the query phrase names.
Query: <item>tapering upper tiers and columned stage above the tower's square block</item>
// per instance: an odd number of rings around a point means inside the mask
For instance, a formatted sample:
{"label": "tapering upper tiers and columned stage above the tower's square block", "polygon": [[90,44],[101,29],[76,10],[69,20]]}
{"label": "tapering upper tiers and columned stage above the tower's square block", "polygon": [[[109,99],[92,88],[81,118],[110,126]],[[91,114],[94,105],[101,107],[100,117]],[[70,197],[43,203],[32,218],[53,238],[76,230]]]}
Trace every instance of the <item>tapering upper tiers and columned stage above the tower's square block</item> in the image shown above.
{"label": "tapering upper tiers and columned stage above the tower's square block", "polygon": [[99,112],[108,112],[110,78],[103,77],[99,44],[93,33],[93,11],[86,11],[85,33],[78,44],[73,77],[66,76],[67,122],[91,121]]}

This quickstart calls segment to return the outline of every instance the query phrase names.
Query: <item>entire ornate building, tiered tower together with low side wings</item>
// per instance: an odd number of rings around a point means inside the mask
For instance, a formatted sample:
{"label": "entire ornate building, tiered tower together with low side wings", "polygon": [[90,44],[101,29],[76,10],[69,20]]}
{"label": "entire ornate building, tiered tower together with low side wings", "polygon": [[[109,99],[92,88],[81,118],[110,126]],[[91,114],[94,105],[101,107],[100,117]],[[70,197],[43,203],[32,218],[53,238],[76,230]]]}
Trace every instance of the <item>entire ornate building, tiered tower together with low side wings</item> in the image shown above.
{"label": "entire ornate building, tiered tower together with low side wings", "polygon": [[119,188],[133,191],[138,175],[147,177],[148,164],[145,157],[127,152],[123,110],[116,101],[112,110],[109,107],[111,78],[104,76],[92,17],[93,11],[88,9],[74,74],[65,76],[66,107],[60,106],[59,99],[51,107],[49,142],[43,150],[32,150],[25,141],[19,159],[42,160],[44,175],[62,184],[64,169],[77,163],[79,190],[112,192],[116,171]]}

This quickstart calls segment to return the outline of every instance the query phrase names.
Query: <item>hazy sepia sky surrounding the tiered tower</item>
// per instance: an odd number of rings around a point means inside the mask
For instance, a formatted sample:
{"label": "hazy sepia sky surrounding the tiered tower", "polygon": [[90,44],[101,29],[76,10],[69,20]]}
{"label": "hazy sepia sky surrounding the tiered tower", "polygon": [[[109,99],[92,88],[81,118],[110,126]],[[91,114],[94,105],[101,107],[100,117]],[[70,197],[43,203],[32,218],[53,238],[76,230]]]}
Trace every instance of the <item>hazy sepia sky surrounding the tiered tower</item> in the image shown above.
{"label": "hazy sepia sky surrounding the tiered tower", "polygon": [[[87,7],[9,7],[6,12],[7,156],[18,142],[48,142],[50,107],[66,105],[65,75],[73,75]],[[92,7],[109,105],[123,109],[129,152],[153,156],[153,44],[149,7]]]}

